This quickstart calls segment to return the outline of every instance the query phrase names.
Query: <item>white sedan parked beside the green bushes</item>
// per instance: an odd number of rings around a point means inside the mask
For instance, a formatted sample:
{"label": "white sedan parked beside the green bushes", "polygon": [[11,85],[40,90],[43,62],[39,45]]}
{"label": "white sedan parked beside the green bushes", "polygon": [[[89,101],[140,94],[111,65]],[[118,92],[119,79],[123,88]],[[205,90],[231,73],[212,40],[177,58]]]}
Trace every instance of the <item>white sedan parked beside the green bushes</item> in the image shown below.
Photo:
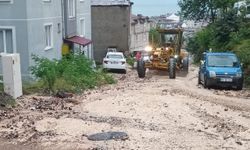
{"label": "white sedan parked beside the green bushes", "polygon": [[121,52],[108,52],[103,58],[103,68],[107,70],[122,70],[127,72],[126,59]]}

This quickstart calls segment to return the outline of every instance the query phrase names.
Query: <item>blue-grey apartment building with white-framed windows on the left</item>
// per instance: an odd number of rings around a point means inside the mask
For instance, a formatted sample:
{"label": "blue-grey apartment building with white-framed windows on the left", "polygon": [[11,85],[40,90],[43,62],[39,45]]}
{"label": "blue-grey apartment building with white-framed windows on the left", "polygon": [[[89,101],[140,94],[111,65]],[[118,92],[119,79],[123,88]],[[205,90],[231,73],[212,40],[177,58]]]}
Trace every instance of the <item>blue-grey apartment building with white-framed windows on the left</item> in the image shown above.
{"label": "blue-grey apartment building with white-framed windows on the left", "polygon": [[[90,21],[90,0],[80,1],[0,0],[0,52],[20,54],[24,77],[34,65],[32,55],[60,59],[65,39],[78,35],[76,6],[89,8],[85,18]],[[84,30],[91,30],[87,24]]]}

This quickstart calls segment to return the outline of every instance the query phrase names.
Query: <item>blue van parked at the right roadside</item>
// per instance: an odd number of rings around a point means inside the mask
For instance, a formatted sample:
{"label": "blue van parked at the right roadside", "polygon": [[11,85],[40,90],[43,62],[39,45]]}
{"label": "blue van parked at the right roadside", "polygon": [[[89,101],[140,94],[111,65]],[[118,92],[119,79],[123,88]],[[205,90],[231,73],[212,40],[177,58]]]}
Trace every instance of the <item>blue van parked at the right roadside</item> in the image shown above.
{"label": "blue van parked at the right roadside", "polygon": [[243,71],[239,59],[233,53],[204,53],[198,83],[205,88],[220,86],[242,90]]}

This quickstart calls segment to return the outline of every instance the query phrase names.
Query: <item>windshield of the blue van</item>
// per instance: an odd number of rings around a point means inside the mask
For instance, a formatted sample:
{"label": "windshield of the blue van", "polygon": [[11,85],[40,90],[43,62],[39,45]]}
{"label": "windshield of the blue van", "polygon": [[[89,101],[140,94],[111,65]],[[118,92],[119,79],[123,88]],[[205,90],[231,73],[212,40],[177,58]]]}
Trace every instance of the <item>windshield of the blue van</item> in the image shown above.
{"label": "windshield of the blue van", "polygon": [[209,67],[236,67],[238,60],[233,55],[212,55],[208,56]]}

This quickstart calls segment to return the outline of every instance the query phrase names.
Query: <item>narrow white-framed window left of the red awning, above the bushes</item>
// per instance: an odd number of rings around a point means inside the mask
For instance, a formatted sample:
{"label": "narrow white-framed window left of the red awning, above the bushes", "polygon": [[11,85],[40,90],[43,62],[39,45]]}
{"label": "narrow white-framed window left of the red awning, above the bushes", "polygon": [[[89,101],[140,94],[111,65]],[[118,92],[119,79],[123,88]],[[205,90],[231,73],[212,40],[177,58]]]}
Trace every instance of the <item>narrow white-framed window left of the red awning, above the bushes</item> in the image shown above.
{"label": "narrow white-framed window left of the red awning, above the bushes", "polygon": [[45,50],[49,50],[53,47],[53,31],[52,24],[45,25]]}

